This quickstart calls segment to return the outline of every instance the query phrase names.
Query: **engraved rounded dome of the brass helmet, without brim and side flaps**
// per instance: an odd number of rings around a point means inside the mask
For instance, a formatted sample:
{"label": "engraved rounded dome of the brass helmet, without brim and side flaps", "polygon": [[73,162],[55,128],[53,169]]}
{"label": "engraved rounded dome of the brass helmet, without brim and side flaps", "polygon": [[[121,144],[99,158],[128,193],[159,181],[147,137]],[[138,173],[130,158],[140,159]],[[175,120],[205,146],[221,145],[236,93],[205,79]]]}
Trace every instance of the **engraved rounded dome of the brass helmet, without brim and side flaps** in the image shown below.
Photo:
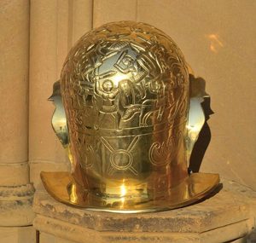
{"label": "engraved rounded dome of the brass helmet, without brim and side flaps", "polygon": [[129,21],[88,32],[67,56],[61,95],[73,159],[89,187],[150,171],[165,180],[172,164],[185,176],[189,74],[164,32]]}

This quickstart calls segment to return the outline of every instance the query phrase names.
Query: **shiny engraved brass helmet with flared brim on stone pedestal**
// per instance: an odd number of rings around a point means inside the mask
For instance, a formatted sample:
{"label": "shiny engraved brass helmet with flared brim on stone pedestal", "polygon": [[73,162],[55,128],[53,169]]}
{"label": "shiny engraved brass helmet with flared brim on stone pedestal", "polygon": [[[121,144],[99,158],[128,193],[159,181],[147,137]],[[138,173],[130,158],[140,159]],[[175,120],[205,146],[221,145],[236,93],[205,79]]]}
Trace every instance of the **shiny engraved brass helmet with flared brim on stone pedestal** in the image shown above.
{"label": "shiny engraved brass helmet with flared brim on stone pedestal", "polygon": [[45,188],[97,211],[161,211],[200,200],[219,182],[216,174],[188,173],[205,121],[200,99],[189,97],[188,66],[164,32],[122,21],[86,33],[50,97],[72,172],[42,172]]}

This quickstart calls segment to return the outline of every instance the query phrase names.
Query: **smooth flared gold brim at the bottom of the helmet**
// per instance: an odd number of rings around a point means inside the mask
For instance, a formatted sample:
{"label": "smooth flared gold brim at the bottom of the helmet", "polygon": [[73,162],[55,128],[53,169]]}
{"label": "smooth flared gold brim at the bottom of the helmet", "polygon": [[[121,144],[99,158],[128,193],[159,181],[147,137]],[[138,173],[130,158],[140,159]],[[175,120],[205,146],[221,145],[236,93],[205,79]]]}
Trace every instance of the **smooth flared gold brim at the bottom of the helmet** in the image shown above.
{"label": "smooth flared gold brim at the bottom of the helmet", "polygon": [[[55,200],[87,210],[120,213],[165,211],[190,205],[210,194],[219,182],[218,174],[195,173],[166,192],[148,194],[147,199],[126,196],[112,199],[90,194],[90,190],[81,188],[68,172],[42,172],[41,178]],[[122,185],[119,189],[123,190]]]}

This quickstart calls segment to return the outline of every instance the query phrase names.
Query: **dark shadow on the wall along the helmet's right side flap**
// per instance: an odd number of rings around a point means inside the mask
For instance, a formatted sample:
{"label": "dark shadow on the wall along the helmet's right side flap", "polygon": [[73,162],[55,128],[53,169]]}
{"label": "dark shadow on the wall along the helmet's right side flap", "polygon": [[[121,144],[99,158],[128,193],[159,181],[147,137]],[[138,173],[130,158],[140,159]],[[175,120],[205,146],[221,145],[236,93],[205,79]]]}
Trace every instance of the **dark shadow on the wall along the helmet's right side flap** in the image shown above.
{"label": "dark shadow on the wall along the helmet's right side flap", "polygon": [[198,136],[198,140],[195,142],[195,147],[192,151],[189,161],[189,171],[198,172],[201,167],[202,159],[207,151],[208,145],[211,142],[211,130],[207,124],[207,120],[210,119],[210,115],[213,114],[211,109],[211,97],[206,92],[206,81],[204,78],[195,78],[194,75],[189,75],[190,83],[190,96],[204,96],[201,106],[205,113],[206,122],[203,125],[201,132]]}

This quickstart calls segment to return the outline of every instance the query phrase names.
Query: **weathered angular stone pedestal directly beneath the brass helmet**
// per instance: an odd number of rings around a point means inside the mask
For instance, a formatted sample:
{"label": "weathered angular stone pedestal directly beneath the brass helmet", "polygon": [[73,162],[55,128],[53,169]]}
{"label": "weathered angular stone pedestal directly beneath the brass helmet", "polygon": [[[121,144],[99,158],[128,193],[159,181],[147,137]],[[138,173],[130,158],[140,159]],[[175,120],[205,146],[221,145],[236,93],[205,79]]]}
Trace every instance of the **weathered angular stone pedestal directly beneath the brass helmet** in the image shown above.
{"label": "weathered angular stone pedestal directly beneath the brass helmet", "polygon": [[33,225],[55,239],[79,243],[239,242],[255,224],[256,193],[236,182],[223,184],[217,194],[195,205],[125,215],[63,205],[41,188],[34,198]]}

